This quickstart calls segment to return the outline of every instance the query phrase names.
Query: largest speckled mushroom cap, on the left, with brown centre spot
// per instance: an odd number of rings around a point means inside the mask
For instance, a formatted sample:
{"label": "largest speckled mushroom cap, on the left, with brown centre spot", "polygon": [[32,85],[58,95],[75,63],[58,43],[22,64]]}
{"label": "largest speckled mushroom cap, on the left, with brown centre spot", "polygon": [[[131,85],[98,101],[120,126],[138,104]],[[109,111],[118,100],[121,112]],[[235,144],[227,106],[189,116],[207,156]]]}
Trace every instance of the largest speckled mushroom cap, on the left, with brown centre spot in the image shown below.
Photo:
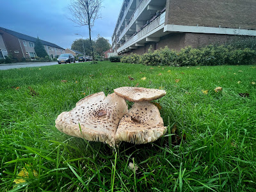
{"label": "largest speckled mushroom cap, on the left, with brown centre spot", "polygon": [[61,113],[55,121],[56,128],[70,136],[114,146],[118,123],[127,111],[125,100],[116,93],[106,97],[99,92],[79,100],[71,111]]}

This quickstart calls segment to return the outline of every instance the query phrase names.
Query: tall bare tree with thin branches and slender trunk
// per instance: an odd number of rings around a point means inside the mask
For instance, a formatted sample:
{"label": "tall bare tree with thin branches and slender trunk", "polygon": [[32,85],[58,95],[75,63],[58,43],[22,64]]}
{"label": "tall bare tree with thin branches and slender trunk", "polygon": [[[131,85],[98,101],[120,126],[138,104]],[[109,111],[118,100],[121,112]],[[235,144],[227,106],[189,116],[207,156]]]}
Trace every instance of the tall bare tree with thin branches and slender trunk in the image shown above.
{"label": "tall bare tree with thin branches and slender trunk", "polygon": [[100,18],[99,11],[101,3],[102,0],[70,0],[70,4],[68,4],[68,9],[72,14],[72,18],[69,19],[79,26],[88,26],[93,59],[94,54],[91,31],[94,25],[94,21]]}

